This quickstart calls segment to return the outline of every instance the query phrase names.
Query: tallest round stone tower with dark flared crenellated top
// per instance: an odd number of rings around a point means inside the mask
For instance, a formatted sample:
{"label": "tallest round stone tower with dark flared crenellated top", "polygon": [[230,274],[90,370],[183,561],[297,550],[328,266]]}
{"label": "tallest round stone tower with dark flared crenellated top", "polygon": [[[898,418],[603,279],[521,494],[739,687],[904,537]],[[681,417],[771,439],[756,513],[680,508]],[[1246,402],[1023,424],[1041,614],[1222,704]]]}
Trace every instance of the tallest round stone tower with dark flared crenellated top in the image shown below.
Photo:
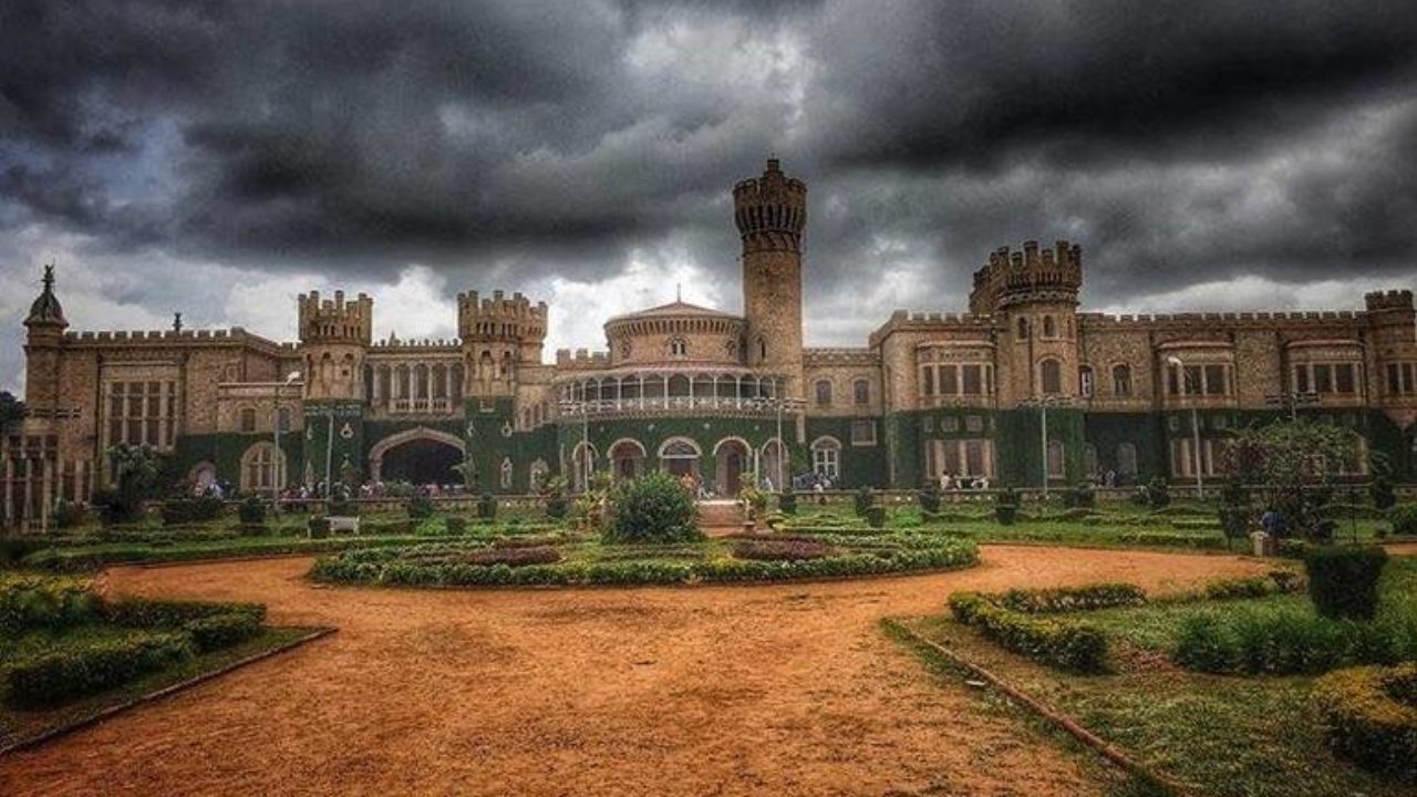
{"label": "tallest round stone tower with dark flared crenellated top", "polygon": [[747,363],[784,374],[788,396],[801,397],[806,184],[771,159],[761,177],[733,187],[733,210],[743,238]]}

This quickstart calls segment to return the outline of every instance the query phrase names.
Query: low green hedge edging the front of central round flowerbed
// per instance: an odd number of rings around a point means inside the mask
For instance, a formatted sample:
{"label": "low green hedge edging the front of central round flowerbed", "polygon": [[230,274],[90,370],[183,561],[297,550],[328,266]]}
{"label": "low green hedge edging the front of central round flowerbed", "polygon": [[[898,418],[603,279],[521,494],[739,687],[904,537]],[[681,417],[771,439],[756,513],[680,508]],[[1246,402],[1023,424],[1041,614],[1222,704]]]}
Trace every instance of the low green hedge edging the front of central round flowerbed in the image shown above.
{"label": "low green hedge edging the front of central round flowerbed", "polygon": [[[408,549],[414,552],[414,549]],[[560,562],[554,564],[473,564],[419,562],[398,549],[351,550],[315,562],[310,577],[339,584],[410,587],[482,586],[602,586],[697,584],[726,581],[786,581],[952,570],[978,563],[979,550],[968,540],[941,540],[930,547],[901,547],[798,560],[621,560]],[[415,552],[417,553],[417,552]]]}

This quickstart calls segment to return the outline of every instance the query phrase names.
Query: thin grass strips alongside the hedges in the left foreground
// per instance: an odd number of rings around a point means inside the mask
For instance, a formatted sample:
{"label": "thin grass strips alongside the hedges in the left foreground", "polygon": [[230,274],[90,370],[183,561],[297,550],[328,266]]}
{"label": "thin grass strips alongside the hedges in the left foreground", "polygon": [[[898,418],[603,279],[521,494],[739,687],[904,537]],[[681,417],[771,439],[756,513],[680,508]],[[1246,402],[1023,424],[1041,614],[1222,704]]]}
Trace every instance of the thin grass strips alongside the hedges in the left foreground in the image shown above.
{"label": "thin grass strips alongside the hedges in the left foreground", "polygon": [[[26,739],[33,739],[54,728],[81,722],[111,706],[133,701],[157,689],[220,669],[242,658],[279,648],[309,635],[312,631],[313,630],[310,628],[265,628],[258,637],[247,640],[239,645],[198,655],[177,667],[153,672],[116,689],[91,695],[52,709],[18,710],[6,706],[3,699],[0,699],[0,747],[10,746]],[[0,648],[0,669],[6,667],[7,661],[14,661],[16,655],[23,655],[45,645],[77,645],[84,641],[98,641],[99,638],[112,638],[133,632],[137,631],[101,625],[81,625],[58,632],[24,634],[18,642]],[[0,695],[0,698],[3,698],[3,695]]]}

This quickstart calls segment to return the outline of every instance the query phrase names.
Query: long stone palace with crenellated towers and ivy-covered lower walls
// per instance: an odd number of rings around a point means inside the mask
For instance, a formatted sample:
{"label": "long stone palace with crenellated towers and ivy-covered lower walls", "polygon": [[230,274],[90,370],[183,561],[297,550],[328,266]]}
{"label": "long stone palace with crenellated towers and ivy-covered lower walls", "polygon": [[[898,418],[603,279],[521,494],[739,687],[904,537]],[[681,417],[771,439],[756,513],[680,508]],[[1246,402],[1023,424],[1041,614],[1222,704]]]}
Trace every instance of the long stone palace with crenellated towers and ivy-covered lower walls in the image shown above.
{"label": "long stone palace with crenellated towers and ivy-covered lower walls", "polygon": [[170,482],[259,492],[462,482],[459,465],[500,494],[652,468],[720,494],[748,471],[777,486],[805,472],[1030,486],[1213,476],[1231,430],[1294,413],[1353,428],[1396,478],[1417,476],[1411,291],[1369,294],[1360,312],[1110,316],[1078,309],[1078,245],[1029,241],[988,255],[965,315],[897,311],[864,346],[806,347],[806,194],[777,160],[734,186],[743,315],[676,301],[608,319],[604,352],[550,363],[547,306],[520,294],[461,294],[458,338],[415,342],[374,340],[370,296],[312,292],[286,343],[180,323],[72,332],[47,271],[24,321],[27,417],[0,441],[6,522],[86,499],[119,442],[164,454]]}

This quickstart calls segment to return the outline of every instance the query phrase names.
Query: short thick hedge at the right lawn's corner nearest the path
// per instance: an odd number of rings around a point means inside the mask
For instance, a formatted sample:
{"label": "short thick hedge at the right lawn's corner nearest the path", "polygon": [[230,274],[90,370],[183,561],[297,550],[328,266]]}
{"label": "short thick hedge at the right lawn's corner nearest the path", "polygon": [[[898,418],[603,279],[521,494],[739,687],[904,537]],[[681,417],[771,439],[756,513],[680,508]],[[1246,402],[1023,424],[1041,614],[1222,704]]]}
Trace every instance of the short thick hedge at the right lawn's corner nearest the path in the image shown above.
{"label": "short thick hedge at the right lawn's corner nearest the path", "polygon": [[949,611],[1005,650],[1034,661],[1078,672],[1101,672],[1107,667],[1107,637],[1091,625],[1030,617],[1003,608],[979,593],[954,593]]}

